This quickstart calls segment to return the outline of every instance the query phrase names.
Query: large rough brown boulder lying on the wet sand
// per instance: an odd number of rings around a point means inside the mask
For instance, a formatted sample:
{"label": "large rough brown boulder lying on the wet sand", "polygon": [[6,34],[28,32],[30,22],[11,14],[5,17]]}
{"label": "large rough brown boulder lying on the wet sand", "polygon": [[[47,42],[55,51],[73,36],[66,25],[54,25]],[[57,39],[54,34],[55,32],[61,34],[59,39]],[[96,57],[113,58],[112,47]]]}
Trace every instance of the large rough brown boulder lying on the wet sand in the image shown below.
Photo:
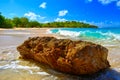
{"label": "large rough brown boulder lying on the wet sand", "polygon": [[25,59],[33,59],[70,74],[93,74],[110,67],[108,50],[86,41],[33,37],[17,47]]}

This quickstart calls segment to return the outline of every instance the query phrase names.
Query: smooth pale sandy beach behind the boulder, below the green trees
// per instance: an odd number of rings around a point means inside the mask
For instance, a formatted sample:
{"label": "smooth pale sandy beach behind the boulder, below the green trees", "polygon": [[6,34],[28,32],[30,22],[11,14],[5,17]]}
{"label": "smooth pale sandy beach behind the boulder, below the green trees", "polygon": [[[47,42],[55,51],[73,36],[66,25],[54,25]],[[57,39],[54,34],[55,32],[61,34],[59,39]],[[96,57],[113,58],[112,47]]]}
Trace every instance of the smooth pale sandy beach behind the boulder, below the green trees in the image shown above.
{"label": "smooth pale sandy beach behind the boulder, below the green trees", "polygon": [[55,36],[47,33],[49,29],[50,28],[0,29],[0,47],[16,46],[28,37]]}

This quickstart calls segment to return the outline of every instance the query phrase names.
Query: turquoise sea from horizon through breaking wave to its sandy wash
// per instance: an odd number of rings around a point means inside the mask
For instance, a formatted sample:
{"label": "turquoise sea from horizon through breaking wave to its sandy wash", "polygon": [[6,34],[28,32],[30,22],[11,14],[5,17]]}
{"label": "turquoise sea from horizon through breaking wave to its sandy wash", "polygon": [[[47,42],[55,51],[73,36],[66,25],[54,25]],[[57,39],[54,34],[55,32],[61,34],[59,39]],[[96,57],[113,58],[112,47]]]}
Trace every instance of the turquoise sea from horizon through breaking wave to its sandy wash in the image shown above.
{"label": "turquoise sea from horizon through breaking wave to its sandy wash", "polygon": [[86,40],[105,46],[120,46],[120,28],[59,28],[49,32],[73,40]]}

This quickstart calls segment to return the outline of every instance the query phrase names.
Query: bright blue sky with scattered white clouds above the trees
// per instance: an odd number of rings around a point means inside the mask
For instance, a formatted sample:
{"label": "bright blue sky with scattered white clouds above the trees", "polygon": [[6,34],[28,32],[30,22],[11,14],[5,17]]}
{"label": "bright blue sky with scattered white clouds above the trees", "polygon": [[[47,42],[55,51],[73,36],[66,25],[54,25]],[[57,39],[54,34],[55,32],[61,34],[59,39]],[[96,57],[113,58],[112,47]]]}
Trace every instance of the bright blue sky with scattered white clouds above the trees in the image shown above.
{"label": "bright blue sky with scattered white clouds above the trees", "polygon": [[0,12],[44,23],[76,20],[120,27],[120,0],[0,0]]}

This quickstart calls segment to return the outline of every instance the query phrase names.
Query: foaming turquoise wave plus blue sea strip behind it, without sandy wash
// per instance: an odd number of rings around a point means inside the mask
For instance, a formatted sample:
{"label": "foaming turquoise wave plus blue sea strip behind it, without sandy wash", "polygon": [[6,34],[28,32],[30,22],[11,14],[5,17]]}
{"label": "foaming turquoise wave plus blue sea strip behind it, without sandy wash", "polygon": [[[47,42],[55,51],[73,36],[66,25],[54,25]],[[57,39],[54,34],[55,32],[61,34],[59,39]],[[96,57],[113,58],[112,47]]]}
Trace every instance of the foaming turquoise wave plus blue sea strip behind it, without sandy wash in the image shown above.
{"label": "foaming turquoise wave plus blue sea strip behind it, without sandy wash", "polygon": [[[118,30],[117,30],[118,31]],[[120,41],[120,32],[107,29],[80,29],[65,28],[52,29],[50,33],[62,36],[69,36],[80,39],[97,39],[97,40],[117,40]]]}

